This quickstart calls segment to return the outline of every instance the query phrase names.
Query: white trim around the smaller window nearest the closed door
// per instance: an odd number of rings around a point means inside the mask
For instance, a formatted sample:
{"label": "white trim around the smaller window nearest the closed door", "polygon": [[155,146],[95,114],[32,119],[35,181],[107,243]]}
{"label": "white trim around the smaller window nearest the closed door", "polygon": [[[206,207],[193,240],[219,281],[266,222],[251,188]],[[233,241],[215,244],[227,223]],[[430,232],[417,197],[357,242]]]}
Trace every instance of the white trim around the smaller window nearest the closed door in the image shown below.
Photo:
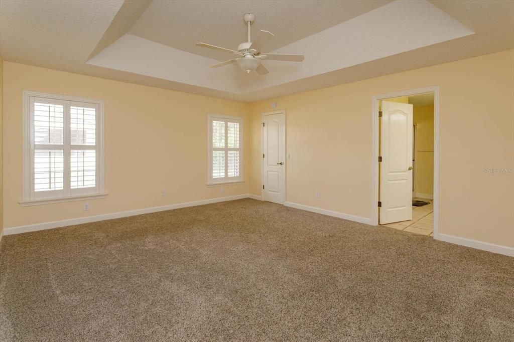
{"label": "white trim around the smaller window nearest the closed door", "polygon": [[[212,120],[213,119],[221,119],[221,120],[234,120],[240,124],[239,128],[239,177],[230,177],[230,179],[227,179],[228,177],[224,177],[220,181],[215,181],[212,178]],[[237,184],[237,183],[243,183],[244,177],[243,177],[243,160],[244,160],[244,153],[243,153],[243,132],[244,132],[244,121],[242,117],[234,117],[234,116],[228,116],[228,115],[218,115],[218,114],[211,114],[209,113],[207,115],[207,185],[219,185],[219,184]],[[227,139],[227,137],[225,137]],[[227,170],[225,170],[227,172]]]}

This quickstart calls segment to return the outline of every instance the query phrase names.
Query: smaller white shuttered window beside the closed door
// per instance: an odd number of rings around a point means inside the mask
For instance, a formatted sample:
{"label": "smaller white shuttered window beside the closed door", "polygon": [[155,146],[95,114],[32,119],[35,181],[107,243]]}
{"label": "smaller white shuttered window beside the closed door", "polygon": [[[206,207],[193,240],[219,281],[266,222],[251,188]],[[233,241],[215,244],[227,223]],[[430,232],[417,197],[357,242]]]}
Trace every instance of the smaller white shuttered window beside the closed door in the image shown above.
{"label": "smaller white shuttered window beside the closed door", "polygon": [[243,121],[241,118],[209,115],[208,184],[242,181]]}

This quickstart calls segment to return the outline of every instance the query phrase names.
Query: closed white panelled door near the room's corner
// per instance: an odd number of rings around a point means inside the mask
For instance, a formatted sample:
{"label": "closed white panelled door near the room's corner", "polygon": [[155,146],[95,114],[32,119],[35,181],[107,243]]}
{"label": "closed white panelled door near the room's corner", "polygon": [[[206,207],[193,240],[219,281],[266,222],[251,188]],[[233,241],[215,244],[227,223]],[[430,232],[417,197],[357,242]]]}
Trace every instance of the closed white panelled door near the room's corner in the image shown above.
{"label": "closed white panelled door near the room's corner", "polygon": [[263,125],[263,200],[284,204],[285,113],[265,114]]}

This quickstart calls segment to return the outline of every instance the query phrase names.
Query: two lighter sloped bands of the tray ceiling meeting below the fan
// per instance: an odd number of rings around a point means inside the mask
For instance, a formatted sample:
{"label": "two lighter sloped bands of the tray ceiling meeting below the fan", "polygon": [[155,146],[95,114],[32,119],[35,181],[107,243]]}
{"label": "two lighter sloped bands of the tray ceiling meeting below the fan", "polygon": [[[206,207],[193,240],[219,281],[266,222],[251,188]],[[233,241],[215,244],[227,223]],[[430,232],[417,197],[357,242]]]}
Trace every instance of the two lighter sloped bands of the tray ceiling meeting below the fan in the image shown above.
{"label": "two lighter sloped bands of the tray ceiling meeting below the fan", "polygon": [[301,53],[305,60],[263,61],[270,70],[265,76],[246,74],[236,66],[211,69],[212,59],[132,34],[88,63],[243,95],[470,34],[472,30],[428,2],[397,1],[274,50]]}

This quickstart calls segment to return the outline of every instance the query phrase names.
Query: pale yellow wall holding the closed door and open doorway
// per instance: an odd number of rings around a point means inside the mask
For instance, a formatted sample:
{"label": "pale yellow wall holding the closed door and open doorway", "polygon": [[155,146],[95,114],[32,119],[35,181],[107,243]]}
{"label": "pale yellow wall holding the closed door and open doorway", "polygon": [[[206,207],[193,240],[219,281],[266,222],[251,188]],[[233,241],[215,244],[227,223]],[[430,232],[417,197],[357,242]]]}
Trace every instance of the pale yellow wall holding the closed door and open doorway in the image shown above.
{"label": "pale yellow wall holding the closed door and open doorway", "polygon": [[261,194],[261,113],[286,109],[286,200],[370,218],[372,97],[439,86],[439,233],[512,247],[513,175],[484,169],[514,167],[513,69],[508,50],[253,103],[250,192]]}

